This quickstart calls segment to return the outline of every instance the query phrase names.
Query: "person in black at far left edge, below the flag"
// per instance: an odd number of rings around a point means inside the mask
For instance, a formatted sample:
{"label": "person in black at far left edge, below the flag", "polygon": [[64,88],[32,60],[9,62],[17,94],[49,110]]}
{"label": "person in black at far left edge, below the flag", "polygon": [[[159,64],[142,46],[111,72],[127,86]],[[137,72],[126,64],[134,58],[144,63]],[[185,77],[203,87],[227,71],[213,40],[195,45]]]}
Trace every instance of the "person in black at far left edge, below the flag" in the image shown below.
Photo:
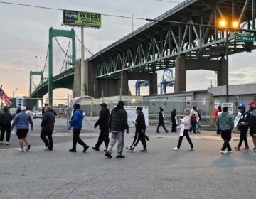
{"label": "person in black at far left edge, below the flag", "polygon": [[4,112],[0,115],[0,125],[1,125],[1,136],[0,144],[3,144],[4,133],[6,132],[6,145],[9,145],[11,137],[11,114],[8,112],[8,107],[4,107]]}

